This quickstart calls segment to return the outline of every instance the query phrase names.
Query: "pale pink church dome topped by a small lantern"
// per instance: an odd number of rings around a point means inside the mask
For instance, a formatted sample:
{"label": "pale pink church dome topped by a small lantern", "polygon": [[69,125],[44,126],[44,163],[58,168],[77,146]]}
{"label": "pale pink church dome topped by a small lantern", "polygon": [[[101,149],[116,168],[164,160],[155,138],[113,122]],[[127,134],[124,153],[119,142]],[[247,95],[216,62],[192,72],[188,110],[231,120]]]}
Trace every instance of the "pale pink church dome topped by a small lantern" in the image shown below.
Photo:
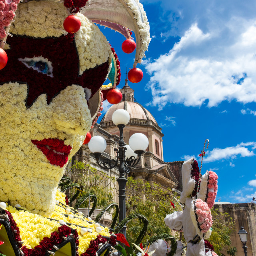
{"label": "pale pink church dome topped by a small lantern", "polygon": [[141,104],[134,101],[134,90],[128,86],[128,80],[125,80],[125,86],[120,90],[122,92],[122,101],[118,104],[112,105],[105,116],[102,118],[100,124],[103,122],[112,121],[112,114],[118,109],[124,109],[130,114],[130,119],[141,119],[141,120],[151,120],[156,125],[157,122],[152,114],[146,110]]}

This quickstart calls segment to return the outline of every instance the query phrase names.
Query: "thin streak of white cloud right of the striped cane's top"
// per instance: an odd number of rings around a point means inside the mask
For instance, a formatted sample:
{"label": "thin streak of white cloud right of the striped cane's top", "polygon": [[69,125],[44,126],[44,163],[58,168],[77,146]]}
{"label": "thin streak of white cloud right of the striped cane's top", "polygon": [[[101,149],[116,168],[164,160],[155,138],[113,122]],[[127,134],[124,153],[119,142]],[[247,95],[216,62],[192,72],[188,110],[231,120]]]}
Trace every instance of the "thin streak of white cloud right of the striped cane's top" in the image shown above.
{"label": "thin streak of white cloud right of the striped cane's top", "polygon": [[[248,147],[252,146],[252,150],[249,150]],[[256,142],[242,142],[236,146],[227,147],[227,148],[214,148],[212,151],[206,152],[206,158],[204,158],[204,162],[214,162],[218,160],[232,160],[237,156],[246,157],[246,156],[254,156],[254,147],[256,146]],[[230,166],[234,166],[232,162],[230,162]]]}

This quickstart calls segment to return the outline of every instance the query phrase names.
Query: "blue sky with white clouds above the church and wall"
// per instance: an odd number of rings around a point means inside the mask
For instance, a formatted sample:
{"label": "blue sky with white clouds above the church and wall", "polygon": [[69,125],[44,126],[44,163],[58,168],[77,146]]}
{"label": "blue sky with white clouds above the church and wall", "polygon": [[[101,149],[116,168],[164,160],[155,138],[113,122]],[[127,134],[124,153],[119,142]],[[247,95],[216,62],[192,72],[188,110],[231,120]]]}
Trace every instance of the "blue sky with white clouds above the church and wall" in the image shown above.
{"label": "blue sky with white clouds above the church and wall", "polygon": [[[200,162],[209,139],[202,173],[218,174],[216,200],[250,202],[256,197],[256,2],[141,2],[152,40],[137,66],[144,78],[129,85],[162,128],[164,161],[194,156]],[[120,89],[134,53],[122,52],[121,34],[102,31],[121,63]]]}

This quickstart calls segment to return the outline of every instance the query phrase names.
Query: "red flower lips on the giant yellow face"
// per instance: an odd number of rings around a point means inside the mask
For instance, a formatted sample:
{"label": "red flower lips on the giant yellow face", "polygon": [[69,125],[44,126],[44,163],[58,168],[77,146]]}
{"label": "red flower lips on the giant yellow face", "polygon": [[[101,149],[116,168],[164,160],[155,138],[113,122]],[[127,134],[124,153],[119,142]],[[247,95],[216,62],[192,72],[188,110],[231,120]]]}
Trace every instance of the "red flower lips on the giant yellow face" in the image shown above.
{"label": "red flower lips on the giant yellow face", "polygon": [[63,167],[68,162],[68,155],[72,148],[70,145],[64,145],[63,140],[49,138],[41,141],[31,140],[31,142],[43,152],[50,164]]}

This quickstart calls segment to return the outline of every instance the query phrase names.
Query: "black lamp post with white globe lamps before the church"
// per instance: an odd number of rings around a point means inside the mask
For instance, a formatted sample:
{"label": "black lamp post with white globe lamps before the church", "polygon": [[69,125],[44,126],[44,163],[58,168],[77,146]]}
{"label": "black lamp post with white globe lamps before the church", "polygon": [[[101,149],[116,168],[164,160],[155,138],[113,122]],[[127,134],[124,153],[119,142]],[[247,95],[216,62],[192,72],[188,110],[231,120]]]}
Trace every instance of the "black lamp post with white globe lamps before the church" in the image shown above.
{"label": "black lamp post with white globe lamps before the church", "polygon": [[[140,161],[141,155],[148,147],[148,138],[142,133],[135,133],[129,139],[129,145],[125,145],[123,138],[123,130],[130,120],[129,113],[124,109],[116,110],[112,115],[112,121],[119,128],[119,147],[114,148],[116,152],[116,160],[104,159],[100,162],[100,155],[106,149],[106,141],[101,136],[94,136],[88,143],[90,151],[94,154],[97,164],[105,169],[110,170],[118,165],[119,161],[119,222],[126,217],[125,192],[126,192],[126,174],[130,172],[130,168],[134,167]],[[126,237],[126,226],[121,230]]]}

